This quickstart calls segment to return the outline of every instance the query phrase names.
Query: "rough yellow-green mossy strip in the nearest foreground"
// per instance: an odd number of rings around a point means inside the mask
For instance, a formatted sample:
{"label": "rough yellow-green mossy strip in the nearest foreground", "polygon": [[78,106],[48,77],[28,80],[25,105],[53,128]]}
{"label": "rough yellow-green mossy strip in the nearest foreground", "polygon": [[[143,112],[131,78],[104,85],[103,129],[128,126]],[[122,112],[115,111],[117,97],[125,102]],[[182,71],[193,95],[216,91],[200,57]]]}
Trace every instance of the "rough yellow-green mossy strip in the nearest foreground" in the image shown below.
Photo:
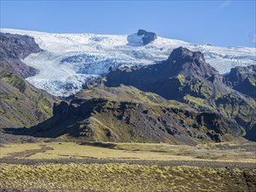
{"label": "rough yellow-green mossy strip in the nearest foreground", "polygon": [[96,191],[253,190],[255,170],[127,164],[0,165],[3,189]]}

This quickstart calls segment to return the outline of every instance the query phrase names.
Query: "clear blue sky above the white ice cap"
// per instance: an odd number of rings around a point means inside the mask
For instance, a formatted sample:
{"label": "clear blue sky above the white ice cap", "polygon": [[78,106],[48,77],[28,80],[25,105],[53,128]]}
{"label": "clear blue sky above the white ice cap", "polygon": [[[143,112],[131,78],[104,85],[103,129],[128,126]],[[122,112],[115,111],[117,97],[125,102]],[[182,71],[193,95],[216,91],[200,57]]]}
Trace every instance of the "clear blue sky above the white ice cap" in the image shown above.
{"label": "clear blue sky above the white ice cap", "polygon": [[253,1],[1,0],[1,27],[130,34],[138,29],[195,44],[255,46]]}

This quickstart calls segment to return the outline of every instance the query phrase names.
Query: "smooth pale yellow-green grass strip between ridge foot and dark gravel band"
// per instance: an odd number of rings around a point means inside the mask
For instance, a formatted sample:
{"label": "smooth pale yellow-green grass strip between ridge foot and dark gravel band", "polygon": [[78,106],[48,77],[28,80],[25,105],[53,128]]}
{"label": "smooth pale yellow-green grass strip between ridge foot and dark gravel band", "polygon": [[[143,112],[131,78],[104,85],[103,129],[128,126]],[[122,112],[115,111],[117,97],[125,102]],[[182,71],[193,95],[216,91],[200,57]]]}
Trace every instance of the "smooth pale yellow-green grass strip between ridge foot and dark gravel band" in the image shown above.
{"label": "smooth pale yellow-green grass strip between ridge foot and dark gravel band", "polygon": [[[47,148],[36,151],[40,148]],[[0,147],[1,158],[27,160],[106,159],[122,161],[232,161],[255,162],[255,143],[224,142],[197,146],[166,143],[95,143],[75,142],[20,143]],[[238,150],[239,149],[239,150]],[[17,155],[18,153],[18,155]],[[28,155],[30,154],[30,155]]]}

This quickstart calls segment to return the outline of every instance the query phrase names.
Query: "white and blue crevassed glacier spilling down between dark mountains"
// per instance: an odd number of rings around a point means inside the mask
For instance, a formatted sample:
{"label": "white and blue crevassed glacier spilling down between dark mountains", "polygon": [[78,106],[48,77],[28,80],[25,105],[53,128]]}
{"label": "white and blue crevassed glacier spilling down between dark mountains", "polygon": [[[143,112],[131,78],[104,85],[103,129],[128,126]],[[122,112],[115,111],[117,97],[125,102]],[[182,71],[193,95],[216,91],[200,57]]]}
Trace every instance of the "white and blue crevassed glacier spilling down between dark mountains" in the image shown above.
{"label": "white and blue crevassed glacier spilling down between dark mountains", "polygon": [[37,31],[1,29],[2,32],[28,35],[44,51],[24,58],[24,63],[38,69],[27,80],[57,96],[79,92],[87,79],[104,75],[109,67],[151,65],[169,57],[179,46],[201,51],[218,72],[230,72],[238,65],[255,65],[256,49],[193,45],[180,40],[156,38],[142,45],[142,37],[131,35],[53,34]]}

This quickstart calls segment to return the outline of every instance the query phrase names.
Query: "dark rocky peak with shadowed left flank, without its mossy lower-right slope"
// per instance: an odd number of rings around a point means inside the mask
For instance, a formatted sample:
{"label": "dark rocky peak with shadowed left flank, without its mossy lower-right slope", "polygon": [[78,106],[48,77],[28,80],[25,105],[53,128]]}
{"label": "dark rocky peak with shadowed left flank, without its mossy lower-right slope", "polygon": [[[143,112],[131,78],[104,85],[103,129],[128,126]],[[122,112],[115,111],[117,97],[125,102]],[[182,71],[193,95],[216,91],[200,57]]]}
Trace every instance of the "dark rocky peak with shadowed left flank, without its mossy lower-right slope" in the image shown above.
{"label": "dark rocky peak with shadowed left flank, without its mossy lower-right slope", "polygon": [[[107,74],[107,86],[135,86],[160,94],[165,99],[181,100],[186,94],[207,98],[212,94],[229,93],[218,72],[205,63],[201,52],[179,47],[161,64],[142,68],[121,68]],[[214,88],[213,88],[214,86]]]}

